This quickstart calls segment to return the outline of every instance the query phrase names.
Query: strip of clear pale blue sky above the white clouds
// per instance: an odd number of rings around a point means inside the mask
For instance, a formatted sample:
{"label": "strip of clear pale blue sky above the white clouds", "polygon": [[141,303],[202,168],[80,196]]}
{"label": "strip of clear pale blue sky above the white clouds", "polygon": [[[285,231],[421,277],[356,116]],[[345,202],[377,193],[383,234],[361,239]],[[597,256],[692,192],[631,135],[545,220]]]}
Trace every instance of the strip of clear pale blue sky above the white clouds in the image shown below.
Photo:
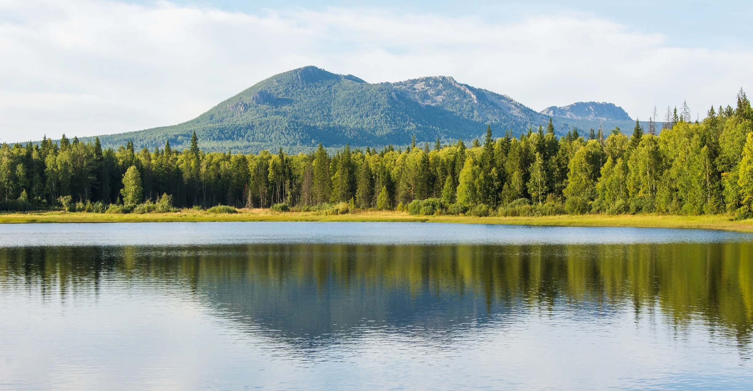
{"label": "strip of clear pale blue sky above the white clouds", "polygon": [[[154,5],[154,0],[135,3]],[[501,1],[480,0],[400,0],[349,2],[344,0],[316,2],[276,0],[256,2],[241,0],[178,0],[179,5],[220,8],[226,11],[263,13],[270,9],[309,8],[325,10],[338,8],[382,8],[395,12],[441,15],[477,15],[486,20],[514,20],[531,14],[592,14],[606,20],[623,23],[644,32],[667,35],[669,43],[695,47],[751,47],[753,40],[753,2],[717,0],[715,2],[686,1]]]}

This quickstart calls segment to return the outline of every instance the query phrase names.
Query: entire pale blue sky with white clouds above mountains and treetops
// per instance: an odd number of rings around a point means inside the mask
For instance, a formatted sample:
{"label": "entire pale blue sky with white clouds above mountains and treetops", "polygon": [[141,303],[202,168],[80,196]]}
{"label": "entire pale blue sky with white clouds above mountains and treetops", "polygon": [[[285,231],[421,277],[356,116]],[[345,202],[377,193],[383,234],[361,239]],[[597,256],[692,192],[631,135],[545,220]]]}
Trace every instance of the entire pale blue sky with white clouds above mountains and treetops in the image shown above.
{"label": "entire pale blue sky with white clouds above mountains and treetops", "polygon": [[753,88],[751,16],[724,0],[0,0],[0,142],[181,123],[305,65],[703,118]]}

